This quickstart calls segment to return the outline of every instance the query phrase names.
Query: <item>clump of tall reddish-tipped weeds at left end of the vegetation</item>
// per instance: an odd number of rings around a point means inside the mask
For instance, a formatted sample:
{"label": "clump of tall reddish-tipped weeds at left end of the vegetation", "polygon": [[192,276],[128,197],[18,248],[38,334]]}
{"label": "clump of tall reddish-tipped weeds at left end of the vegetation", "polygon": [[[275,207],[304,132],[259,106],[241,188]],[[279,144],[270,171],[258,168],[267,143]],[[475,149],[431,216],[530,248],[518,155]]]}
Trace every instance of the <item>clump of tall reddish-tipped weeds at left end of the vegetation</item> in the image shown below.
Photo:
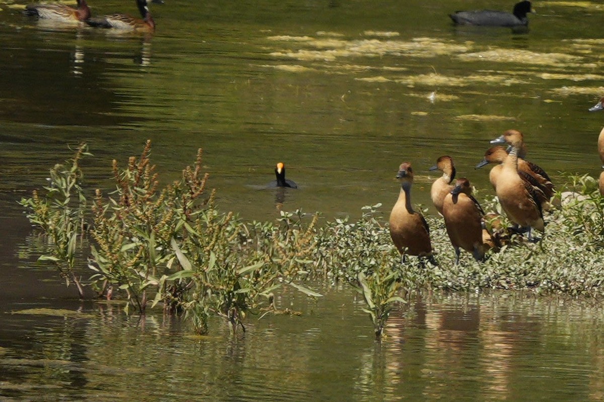
{"label": "clump of tall reddish-tipped weeds at left end of the vegetation", "polygon": [[41,259],[77,281],[80,294],[76,239],[89,227],[88,267],[94,274],[87,284],[108,298],[124,292],[126,310],[133,306],[143,313],[151,298],[153,306],[162,302],[165,312],[190,317],[198,333],[207,331],[213,314],[225,317],[232,331],[245,328],[245,316],[269,304],[271,292],[283,284],[320,296],[295,283],[312,263],[318,216],[305,226],[301,211],[283,212],[275,224],[246,224],[233,213],[220,213],[215,192],[206,190],[201,149],[181,180],[161,187],[149,141],[124,168],[113,161],[115,190],[104,195],[97,189],[89,206],[79,166],[85,149],[80,147],[68,168],[51,170],[44,196],[34,192],[21,201],[30,221],[55,245]]}

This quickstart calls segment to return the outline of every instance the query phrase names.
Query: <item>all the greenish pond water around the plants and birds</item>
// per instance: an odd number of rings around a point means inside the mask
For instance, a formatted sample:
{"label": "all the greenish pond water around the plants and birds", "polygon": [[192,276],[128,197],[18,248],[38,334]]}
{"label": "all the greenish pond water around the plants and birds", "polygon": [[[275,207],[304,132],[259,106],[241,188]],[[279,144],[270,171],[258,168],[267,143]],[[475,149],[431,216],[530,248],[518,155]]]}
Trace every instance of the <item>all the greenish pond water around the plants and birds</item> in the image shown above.
{"label": "all the greenish pond water around the plants and birds", "polygon": [[[307,304],[301,317],[249,320],[243,338],[190,339],[178,322],[127,317],[72,300],[36,265],[36,239],[16,200],[87,142],[91,186],[109,186],[153,143],[167,183],[204,148],[219,206],[277,216],[262,189],[284,162],[299,190],[284,209],[358,216],[388,210],[403,161],[427,204],[428,172],[449,154],[475,171],[488,141],[525,133],[528,158],[554,179],[597,175],[604,115],[598,2],[534,2],[530,31],[455,28],[447,13],[512,2],[166,0],[153,36],[56,27],[0,2],[0,397],[5,400],[602,400],[597,303],[527,295],[427,297],[397,312],[387,341],[352,291]],[[25,3],[19,3],[22,6]],[[93,14],[135,13],[91,0]],[[82,309],[86,318],[11,315]]]}

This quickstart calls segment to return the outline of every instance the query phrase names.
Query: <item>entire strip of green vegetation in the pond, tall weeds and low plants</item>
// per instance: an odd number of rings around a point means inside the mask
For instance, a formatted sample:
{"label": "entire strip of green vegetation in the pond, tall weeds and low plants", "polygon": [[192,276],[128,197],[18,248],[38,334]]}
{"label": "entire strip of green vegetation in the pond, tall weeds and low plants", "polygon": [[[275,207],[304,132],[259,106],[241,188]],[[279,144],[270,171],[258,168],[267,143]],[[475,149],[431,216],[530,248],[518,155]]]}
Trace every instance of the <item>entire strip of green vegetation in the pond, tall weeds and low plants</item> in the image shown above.
{"label": "entire strip of green vegetation in the pond, tall weeds and low plants", "polygon": [[[51,169],[48,186],[21,200],[50,245],[40,260],[76,283],[80,295],[89,285],[98,295],[124,297],[127,308],[141,313],[149,303],[159,304],[167,314],[190,319],[201,334],[213,315],[224,317],[233,332],[245,330],[249,315],[274,312],[272,295],[281,286],[320,297],[309,283],[343,281],[361,293],[377,339],[393,309],[421,289],[604,295],[604,201],[588,176],[568,177],[559,186],[573,192],[548,213],[538,243],[510,234],[496,200],[483,201],[495,217],[489,225],[501,234],[484,263],[462,253],[455,265],[443,219],[426,214],[435,266],[400,262],[381,204],[363,207],[357,221],[319,224],[319,215],[297,210],[281,212],[274,222],[243,222],[217,208],[201,149],[181,178],[165,186],[150,153],[147,142],[126,166],[114,161],[115,189],[92,192],[83,186],[79,162],[89,153],[82,145]],[[87,193],[94,193],[92,202]],[[88,244],[92,277],[82,281],[76,257]]]}

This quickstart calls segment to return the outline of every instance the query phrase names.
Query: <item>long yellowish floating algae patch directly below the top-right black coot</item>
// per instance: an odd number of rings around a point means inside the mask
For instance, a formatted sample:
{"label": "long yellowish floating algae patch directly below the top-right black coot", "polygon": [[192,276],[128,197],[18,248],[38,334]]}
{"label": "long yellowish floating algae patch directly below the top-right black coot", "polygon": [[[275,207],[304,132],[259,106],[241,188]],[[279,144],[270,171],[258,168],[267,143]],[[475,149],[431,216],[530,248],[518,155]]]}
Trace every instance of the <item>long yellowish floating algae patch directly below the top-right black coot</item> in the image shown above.
{"label": "long yellowish floating algae patch directly below the top-right black coot", "polygon": [[462,61],[493,61],[496,63],[536,64],[539,66],[585,66],[583,57],[564,53],[539,53],[523,49],[492,49],[457,55]]}

